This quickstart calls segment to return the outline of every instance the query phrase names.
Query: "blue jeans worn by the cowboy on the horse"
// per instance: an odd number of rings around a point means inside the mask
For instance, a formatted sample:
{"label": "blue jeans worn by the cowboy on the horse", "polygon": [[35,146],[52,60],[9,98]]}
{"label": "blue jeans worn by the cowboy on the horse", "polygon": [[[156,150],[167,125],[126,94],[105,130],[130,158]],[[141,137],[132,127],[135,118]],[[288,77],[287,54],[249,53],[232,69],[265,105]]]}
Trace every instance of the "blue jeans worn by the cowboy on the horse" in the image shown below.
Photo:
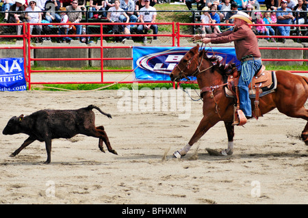
{"label": "blue jeans worn by the cowboy on the horse", "polygon": [[253,80],[253,76],[261,68],[261,59],[246,61],[241,66],[241,76],[238,80],[238,89],[240,91],[240,109],[248,117],[252,116],[251,112],[251,99],[249,98],[248,85]]}

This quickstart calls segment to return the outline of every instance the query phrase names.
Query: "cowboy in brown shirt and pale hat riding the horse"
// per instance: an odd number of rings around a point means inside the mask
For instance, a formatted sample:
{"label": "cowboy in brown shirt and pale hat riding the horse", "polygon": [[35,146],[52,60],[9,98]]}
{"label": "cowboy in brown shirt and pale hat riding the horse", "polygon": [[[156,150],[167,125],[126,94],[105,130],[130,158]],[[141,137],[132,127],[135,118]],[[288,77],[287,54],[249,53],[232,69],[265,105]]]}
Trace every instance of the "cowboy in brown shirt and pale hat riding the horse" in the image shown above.
{"label": "cowboy in brown shirt and pale hat riding the horse", "polygon": [[[261,53],[259,51],[257,37],[248,24],[252,24],[251,19],[245,12],[239,11],[231,16],[234,18],[235,27],[233,31],[224,31],[223,33],[194,35],[194,40],[200,40],[207,44],[234,42],[235,53],[241,62],[241,71],[238,89],[240,91],[240,109],[246,117],[252,117],[251,100],[249,98],[248,85],[251,83],[253,76],[261,68]],[[233,123],[237,125],[238,123]]]}

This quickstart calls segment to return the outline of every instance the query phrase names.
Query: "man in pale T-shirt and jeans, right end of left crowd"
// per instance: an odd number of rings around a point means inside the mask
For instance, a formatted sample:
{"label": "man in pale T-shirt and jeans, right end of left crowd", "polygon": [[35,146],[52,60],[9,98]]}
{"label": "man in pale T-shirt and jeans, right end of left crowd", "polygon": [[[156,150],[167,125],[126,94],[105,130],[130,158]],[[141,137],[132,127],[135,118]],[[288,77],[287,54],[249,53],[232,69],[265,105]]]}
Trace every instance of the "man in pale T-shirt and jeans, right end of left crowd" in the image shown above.
{"label": "man in pale T-shirt and jeans, right end of left crowd", "polygon": [[[149,24],[138,25],[137,32],[142,34],[144,31],[144,33],[146,34],[149,29],[153,29],[153,34],[157,34],[158,33],[157,25],[151,24],[151,23],[155,23],[156,15],[157,15],[156,9],[150,6],[149,0],[144,0],[144,3],[145,3],[144,8],[140,9],[140,23],[149,23]],[[157,36],[154,36],[153,39],[156,40]],[[147,42],[146,36],[144,37],[143,42],[144,43]]]}

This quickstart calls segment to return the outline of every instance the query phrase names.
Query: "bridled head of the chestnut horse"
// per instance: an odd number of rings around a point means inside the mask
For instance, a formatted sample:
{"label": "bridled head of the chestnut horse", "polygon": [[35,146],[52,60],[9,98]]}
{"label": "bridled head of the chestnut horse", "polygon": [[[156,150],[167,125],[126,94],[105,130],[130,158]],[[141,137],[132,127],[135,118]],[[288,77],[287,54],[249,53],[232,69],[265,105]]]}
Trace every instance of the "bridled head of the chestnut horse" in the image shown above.
{"label": "bridled head of the chestnut horse", "polygon": [[199,45],[194,46],[188,53],[184,55],[179,64],[172,70],[170,74],[171,81],[179,81],[185,77],[190,77],[198,68],[198,50]]}

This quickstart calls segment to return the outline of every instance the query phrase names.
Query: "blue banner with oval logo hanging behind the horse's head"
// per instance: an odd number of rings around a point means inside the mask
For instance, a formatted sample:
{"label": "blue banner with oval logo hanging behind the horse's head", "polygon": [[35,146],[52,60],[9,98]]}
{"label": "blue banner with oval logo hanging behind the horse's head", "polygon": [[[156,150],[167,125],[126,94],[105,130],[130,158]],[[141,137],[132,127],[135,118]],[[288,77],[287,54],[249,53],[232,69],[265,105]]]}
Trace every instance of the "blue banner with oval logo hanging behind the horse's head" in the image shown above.
{"label": "blue banner with oval logo hanging behind the horse's head", "polygon": [[[133,46],[133,69],[138,81],[170,81],[170,72],[192,47]],[[205,47],[207,55],[216,55],[240,65],[233,47]]]}

